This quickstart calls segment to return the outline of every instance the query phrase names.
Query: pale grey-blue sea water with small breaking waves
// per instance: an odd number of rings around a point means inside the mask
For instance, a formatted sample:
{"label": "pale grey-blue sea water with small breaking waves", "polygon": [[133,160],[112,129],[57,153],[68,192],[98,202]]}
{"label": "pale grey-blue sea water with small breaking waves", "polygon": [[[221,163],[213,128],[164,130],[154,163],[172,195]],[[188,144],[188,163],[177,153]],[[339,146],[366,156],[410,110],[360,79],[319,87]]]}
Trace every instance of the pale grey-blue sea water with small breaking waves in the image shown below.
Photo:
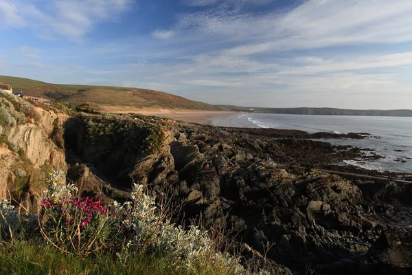
{"label": "pale grey-blue sea water with small breaking waves", "polygon": [[[297,129],[308,133],[369,133],[363,140],[326,140],[336,145],[371,148],[384,159],[347,159],[345,164],[400,173],[412,173],[412,118],[346,115],[279,115],[266,113],[216,117],[215,126],[244,128]],[[365,154],[369,154],[365,151]],[[399,160],[399,161],[397,161]],[[401,161],[406,161],[402,163]]]}

